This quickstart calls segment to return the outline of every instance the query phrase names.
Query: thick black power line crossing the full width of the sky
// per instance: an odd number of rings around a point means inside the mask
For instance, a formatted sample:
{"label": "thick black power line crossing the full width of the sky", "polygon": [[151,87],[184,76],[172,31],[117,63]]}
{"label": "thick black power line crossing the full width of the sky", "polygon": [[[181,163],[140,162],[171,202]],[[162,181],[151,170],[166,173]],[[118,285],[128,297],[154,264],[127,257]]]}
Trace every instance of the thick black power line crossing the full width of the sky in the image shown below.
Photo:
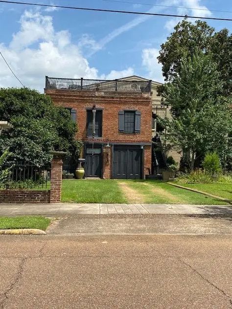
{"label": "thick black power line crossing the full width of the sky", "polygon": [[201,17],[201,16],[189,16],[189,15],[158,14],[158,13],[145,13],[145,12],[134,12],[134,11],[94,9],[94,8],[87,8],[87,7],[75,7],[75,6],[63,6],[63,5],[51,5],[51,4],[26,3],[26,2],[15,2],[15,1],[6,1],[6,0],[0,0],[0,2],[14,3],[14,4],[25,4],[25,5],[35,5],[35,6],[44,6],[44,7],[57,7],[57,8],[63,8],[63,9],[94,11],[94,12],[111,12],[111,13],[124,13],[124,14],[136,14],[136,15],[148,15],[148,16],[182,17],[182,18],[194,18],[194,19],[205,19],[205,20],[229,21],[229,22],[232,22],[231,18]]}

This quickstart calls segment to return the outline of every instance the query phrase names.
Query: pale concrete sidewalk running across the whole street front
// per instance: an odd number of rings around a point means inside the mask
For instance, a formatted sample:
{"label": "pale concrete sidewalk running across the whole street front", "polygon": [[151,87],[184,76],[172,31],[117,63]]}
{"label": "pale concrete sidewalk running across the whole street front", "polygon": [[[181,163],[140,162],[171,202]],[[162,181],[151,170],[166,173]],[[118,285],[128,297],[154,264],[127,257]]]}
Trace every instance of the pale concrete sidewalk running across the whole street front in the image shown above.
{"label": "pale concrete sidewalk running across the whole street front", "polygon": [[110,215],[179,214],[232,216],[227,205],[168,204],[0,204],[0,216],[11,215]]}

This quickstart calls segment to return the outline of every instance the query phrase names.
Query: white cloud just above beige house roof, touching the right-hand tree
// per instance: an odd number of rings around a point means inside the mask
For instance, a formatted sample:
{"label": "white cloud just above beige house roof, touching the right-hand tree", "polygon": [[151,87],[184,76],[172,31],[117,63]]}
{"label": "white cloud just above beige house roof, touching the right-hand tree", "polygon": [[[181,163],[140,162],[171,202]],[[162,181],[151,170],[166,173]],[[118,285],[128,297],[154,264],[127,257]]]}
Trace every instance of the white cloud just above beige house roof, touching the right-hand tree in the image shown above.
{"label": "white cloud just above beige house roof, touching the right-hand tree", "polygon": [[147,71],[146,77],[156,82],[163,83],[162,66],[158,63],[157,57],[159,50],[157,48],[145,48],[142,50],[142,65]]}

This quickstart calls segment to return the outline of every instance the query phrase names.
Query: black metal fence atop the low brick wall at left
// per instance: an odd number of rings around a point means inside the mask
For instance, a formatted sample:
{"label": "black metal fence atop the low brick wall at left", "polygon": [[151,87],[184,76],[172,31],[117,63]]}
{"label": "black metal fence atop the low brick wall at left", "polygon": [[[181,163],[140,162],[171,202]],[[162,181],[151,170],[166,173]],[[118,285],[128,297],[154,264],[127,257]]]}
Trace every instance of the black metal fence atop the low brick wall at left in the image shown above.
{"label": "black metal fence atop the low brick wall at left", "polygon": [[0,189],[50,189],[50,165],[17,161],[0,167]]}

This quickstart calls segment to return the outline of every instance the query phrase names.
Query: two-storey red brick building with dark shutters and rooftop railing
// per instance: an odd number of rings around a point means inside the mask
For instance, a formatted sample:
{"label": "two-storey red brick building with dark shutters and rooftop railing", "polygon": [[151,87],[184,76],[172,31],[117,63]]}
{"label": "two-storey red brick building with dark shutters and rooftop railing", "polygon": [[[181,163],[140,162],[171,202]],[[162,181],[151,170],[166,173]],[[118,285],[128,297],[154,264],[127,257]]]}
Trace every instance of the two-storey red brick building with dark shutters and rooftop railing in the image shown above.
{"label": "two-storey red brick building with dark shutters and rooftop railing", "polygon": [[150,174],[150,81],[46,77],[45,93],[77,122],[86,177],[141,179]]}

